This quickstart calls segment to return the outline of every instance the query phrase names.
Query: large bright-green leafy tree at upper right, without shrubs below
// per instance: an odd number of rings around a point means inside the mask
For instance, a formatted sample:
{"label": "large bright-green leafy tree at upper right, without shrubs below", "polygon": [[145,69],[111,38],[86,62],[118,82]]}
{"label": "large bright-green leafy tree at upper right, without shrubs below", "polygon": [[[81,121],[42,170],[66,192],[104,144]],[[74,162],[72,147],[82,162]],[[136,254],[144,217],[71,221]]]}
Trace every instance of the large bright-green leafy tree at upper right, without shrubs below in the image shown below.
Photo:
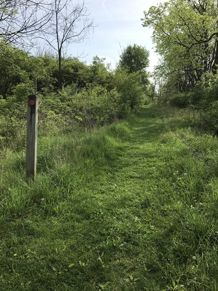
{"label": "large bright-green leafy tree at upper right, without shrubs below", "polygon": [[[218,2],[170,0],[144,12],[143,26],[153,27],[156,51],[163,57],[162,77],[176,93],[193,88],[218,65]],[[173,80],[173,82],[172,82]]]}

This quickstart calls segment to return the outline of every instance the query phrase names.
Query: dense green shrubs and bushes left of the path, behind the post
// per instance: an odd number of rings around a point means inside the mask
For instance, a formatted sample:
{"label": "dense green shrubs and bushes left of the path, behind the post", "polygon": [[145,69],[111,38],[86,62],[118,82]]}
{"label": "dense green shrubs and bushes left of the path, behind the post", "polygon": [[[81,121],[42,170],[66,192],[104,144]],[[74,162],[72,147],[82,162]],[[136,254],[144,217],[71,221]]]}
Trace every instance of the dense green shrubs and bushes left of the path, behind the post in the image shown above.
{"label": "dense green shrubs and bushes left of the path, behind the post", "polygon": [[[129,48],[131,53],[144,52],[144,62],[133,69]],[[132,54],[129,57],[134,59]],[[124,117],[143,103],[148,84],[148,52],[136,45],[124,49],[122,62],[113,71],[97,56],[91,65],[62,58],[61,89],[58,57],[32,56],[2,41],[0,60],[1,148],[10,145],[17,150],[25,145],[29,94],[40,97],[39,134],[47,135],[94,128]]]}

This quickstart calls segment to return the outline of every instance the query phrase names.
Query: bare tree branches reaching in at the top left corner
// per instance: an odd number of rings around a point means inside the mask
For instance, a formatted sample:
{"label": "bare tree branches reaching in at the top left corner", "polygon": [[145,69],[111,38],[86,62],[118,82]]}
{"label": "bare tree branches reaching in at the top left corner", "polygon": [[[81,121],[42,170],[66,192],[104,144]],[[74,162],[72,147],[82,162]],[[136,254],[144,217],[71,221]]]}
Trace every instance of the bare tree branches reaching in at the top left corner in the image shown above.
{"label": "bare tree branches reaching in at the top left corner", "polygon": [[6,43],[31,44],[51,16],[51,1],[0,0],[0,38]]}

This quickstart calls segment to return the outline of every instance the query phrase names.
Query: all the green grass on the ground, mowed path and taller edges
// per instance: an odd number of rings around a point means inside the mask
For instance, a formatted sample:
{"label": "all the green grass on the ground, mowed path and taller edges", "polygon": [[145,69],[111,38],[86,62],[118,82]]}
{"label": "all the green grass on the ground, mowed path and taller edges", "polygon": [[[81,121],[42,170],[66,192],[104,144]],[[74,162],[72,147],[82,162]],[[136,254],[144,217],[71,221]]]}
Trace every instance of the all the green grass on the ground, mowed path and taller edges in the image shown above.
{"label": "all the green grass on the ground, mowed path and taller edges", "polygon": [[218,140],[169,109],[0,164],[1,291],[217,291]]}

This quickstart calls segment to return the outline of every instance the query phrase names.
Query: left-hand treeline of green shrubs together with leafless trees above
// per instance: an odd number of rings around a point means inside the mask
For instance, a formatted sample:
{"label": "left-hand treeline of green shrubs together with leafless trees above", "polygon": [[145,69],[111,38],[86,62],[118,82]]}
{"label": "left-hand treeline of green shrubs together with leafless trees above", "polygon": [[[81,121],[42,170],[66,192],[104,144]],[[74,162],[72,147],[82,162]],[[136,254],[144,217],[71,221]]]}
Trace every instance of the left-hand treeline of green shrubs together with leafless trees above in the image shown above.
{"label": "left-hand treeline of green shrubs together with leafless trees above", "polygon": [[[69,44],[82,42],[93,28],[84,0],[0,1],[0,15],[1,149],[23,148],[29,94],[40,97],[39,135],[102,126],[141,104],[146,49],[126,48],[114,71],[98,57],[86,65],[64,56]],[[41,45],[54,56],[26,52]]]}

